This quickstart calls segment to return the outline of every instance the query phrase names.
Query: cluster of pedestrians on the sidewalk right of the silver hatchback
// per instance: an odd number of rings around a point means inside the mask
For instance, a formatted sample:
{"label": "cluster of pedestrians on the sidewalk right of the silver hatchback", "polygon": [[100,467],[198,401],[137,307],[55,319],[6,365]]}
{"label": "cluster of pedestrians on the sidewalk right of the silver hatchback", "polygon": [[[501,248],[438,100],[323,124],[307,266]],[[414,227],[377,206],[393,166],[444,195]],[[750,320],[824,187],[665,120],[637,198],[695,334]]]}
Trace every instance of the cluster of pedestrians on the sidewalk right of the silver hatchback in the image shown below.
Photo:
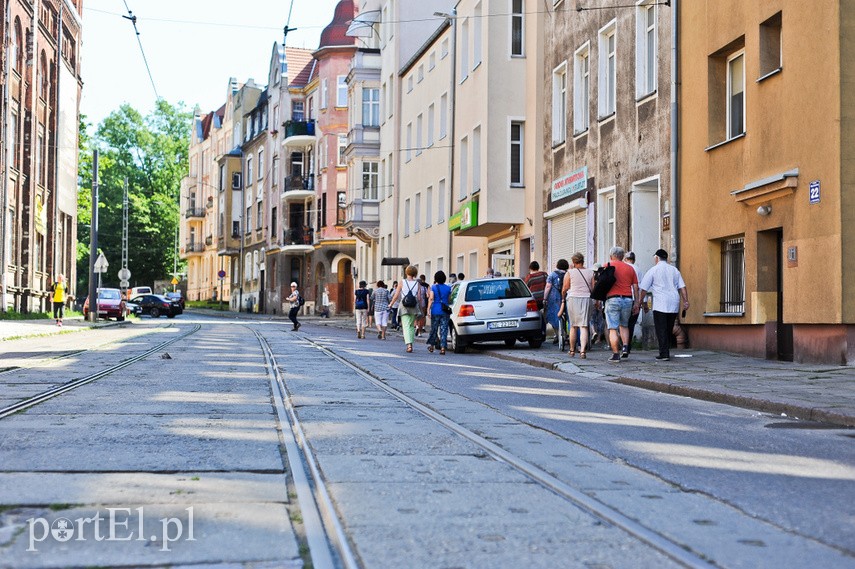
{"label": "cluster of pedestrians on the sidewalk right of the silver hatchback", "polygon": [[[608,343],[611,348],[610,362],[620,362],[629,357],[632,351],[632,333],[642,309],[650,309],[644,299],[648,293],[653,297],[653,321],[656,339],[659,345],[658,361],[670,359],[671,330],[678,313],[689,308],[686,283],[680,271],[668,264],[668,253],[657,250],[654,265],[643,276],[635,265],[635,254],[626,253],[622,247],[612,247],[609,261],[598,270],[585,267],[585,257],[575,253],[571,258],[572,267],[566,259],[559,259],[555,270],[545,277],[543,292],[544,322],[555,333],[554,343],[558,343],[559,334],[566,321],[569,336],[569,355],[575,357],[577,347],[579,357],[587,358],[592,345],[591,336],[600,333],[598,320],[604,317],[608,330]],[[526,277],[535,287],[544,280],[543,271],[537,263],[529,267]],[[606,280],[604,274],[613,275],[613,283],[605,289],[605,301],[594,300],[598,279]],[[605,283],[602,283],[605,285]],[[535,299],[538,298],[530,285]],[[544,324],[545,325],[545,324]]]}

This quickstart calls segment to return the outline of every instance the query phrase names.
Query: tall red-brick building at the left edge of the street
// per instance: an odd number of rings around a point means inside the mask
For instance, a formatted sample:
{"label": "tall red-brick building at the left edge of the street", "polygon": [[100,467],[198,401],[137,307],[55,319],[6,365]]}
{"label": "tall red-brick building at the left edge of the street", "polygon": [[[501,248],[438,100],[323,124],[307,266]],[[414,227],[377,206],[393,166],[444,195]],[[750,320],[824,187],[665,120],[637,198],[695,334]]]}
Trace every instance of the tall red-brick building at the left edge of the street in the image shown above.
{"label": "tall red-brick building at the left edge of the street", "polygon": [[0,2],[3,49],[0,310],[51,306],[55,275],[76,291],[82,2]]}

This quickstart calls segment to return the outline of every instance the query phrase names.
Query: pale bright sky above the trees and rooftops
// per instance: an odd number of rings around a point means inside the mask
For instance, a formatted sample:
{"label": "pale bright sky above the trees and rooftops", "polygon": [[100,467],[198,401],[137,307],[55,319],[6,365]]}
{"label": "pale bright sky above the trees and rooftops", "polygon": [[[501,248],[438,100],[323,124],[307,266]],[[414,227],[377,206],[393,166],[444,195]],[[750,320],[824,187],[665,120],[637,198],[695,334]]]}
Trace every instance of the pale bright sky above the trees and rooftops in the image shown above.
{"label": "pale bright sky above the trees and rooftops", "polygon": [[[293,0],[288,46],[315,49],[338,0]],[[157,94],[202,113],[226,100],[229,77],[267,83],[291,0],[86,0],[81,113],[93,126],[123,103],[143,114]],[[123,18],[128,9],[137,17]],[[139,43],[142,43],[142,52]],[[148,61],[151,79],[142,53]],[[152,86],[154,83],[154,87]]]}

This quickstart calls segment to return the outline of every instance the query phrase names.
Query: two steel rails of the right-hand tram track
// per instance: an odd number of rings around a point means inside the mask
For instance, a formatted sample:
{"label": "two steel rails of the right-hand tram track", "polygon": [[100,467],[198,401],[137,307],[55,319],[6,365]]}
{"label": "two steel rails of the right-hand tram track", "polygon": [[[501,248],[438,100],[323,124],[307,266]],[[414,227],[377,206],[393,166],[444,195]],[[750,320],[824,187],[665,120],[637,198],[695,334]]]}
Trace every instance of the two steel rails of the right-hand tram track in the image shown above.
{"label": "two steel rails of the right-hand tram track", "polygon": [[[327,357],[347,367],[356,376],[364,379],[374,387],[381,389],[382,391],[391,395],[401,403],[404,403],[408,407],[427,417],[431,421],[439,423],[449,431],[463,437],[470,443],[476,445],[487,456],[493,458],[494,460],[501,461],[510,465],[512,468],[525,475],[535,484],[549,490],[553,494],[559,496],[570,504],[582,509],[583,511],[594,516],[595,518],[621,529],[623,532],[630,535],[633,539],[645,543],[646,545],[659,551],[663,555],[669,557],[673,561],[690,569],[710,569],[712,567],[716,567],[715,564],[711,563],[710,561],[702,557],[700,554],[696,555],[694,552],[692,552],[686,544],[672,541],[667,537],[657,533],[656,531],[647,528],[636,520],[629,518],[628,516],[622,514],[614,508],[592,498],[591,496],[581,492],[576,488],[573,488],[566,482],[563,482],[557,477],[549,474],[548,472],[536,466],[535,464],[532,464],[531,462],[520,458],[519,456],[514,455],[511,452],[508,452],[499,445],[487,440],[485,437],[473,432],[472,430],[461,425],[460,423],[453,421],[452,419],[446,417],[435,409],[432,409],[427,405],[420,403],[419,401],[408,396],[406,393],[388,385],[385,381],[379,379],[370,371],[328,349],[320,342],[314,341],[311,338],[304,337],[302,339]],[[266,341],[262,341],[262,343],[265,342]],[[269,346],[267,347],[267,349],[269,350]],[[274,369],[276,369],[275,358],[273,357],[272,352],[270,357],[272,358]],[[279,377],[279,379],[277,380],[279,383],[279,389],[282,392],[286,405],[288,405],[287,401],[289,396],[287,394],[287,391],[285,390],[284,383],[281,382],[281,375],[279,374],[278,370],[275,373]],[[316,492],[322,495],[326,495],[326,499],[322,501],[324,509],[328,509],[328,511],[326,512],[327,515],[325,516],[325,521],[329,522],[329,519],[332,519],[337,522],[337,517],[335,516],[335,510],[332,506],[331,501],[329,501],[328,505],[326,504],[329,499],[328,494],[326,493],[325,483],[320,474],[320,469],[317,463],[311,456],[311,450],[309,449],[309,445],[305,441],[305,437],[302,434],[302,429],[299,426],[299,419],[297,418],[296,413],[294,412],[292,407],[289,407],[288,412],[289,419],[292,425],[292,430],[299,434],[300,446],[303,449],[302,457],[311,472],[312,482],[315,485]],[[335,530],[336,528],[333,529]],[[354,565],[354,567],[356,566],[357,565]],[[347,567],[350,568],[351,566],[347,565]]]}

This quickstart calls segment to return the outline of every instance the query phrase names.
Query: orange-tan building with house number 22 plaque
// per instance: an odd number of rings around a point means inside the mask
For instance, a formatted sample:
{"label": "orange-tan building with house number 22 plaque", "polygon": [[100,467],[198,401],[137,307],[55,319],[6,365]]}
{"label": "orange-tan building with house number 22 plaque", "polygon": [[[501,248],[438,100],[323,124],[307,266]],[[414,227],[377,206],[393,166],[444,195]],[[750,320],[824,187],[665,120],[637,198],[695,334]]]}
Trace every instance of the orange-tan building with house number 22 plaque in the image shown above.
{"label": "orange-tan building with house number 22 plaque", "polygon": [[681,5],[690,341],[851,364],[855,3]]}

